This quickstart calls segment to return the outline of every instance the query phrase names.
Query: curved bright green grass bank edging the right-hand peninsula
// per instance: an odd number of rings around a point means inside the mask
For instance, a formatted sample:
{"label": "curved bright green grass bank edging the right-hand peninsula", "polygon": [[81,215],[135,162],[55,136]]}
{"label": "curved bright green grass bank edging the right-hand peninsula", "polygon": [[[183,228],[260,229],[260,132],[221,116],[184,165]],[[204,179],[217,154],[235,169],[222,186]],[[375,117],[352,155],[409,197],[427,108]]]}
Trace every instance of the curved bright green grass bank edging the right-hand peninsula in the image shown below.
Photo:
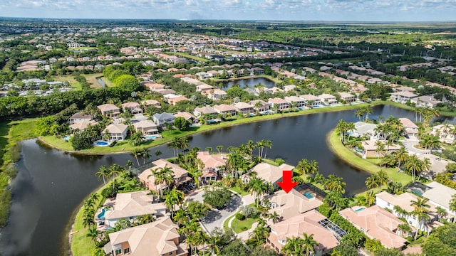
{"label": "curved bright green grass bank edging the right-hand peninsula", "polygon": [[345,161],[347,164],[355,167],[356,169],[367,171],[371,174],[376,174],[378,171],[384,170],[388,174],[389,178],[391,178],[393,181],[400,182],[403,185],[406,185],[412,181],[412,177],[408,176],[407,174],[398,172],[395,168],[383,168],[378,166],[376,164],[376,159],[363,159],[361,156],[358,156],[355,154],[355,152],[346,148],[346,146],[342,144],[341,139],[335,130],[332,130],[328,133],[326,140],[329,148],[334,152],[334,154],[336,154],[340,159]]}

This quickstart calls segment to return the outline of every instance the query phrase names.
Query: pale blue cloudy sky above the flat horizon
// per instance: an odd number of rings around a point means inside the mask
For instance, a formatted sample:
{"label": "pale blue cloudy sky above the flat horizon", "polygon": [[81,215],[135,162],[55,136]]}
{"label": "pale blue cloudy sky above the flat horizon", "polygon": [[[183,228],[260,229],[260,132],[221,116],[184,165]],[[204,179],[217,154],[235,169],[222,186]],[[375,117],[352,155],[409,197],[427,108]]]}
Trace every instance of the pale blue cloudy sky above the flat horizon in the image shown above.
{"label": "pale blue cloudy sky above the flat horizon", "polygon": [[0,16],[456,21],[456,0],[0,0]]}

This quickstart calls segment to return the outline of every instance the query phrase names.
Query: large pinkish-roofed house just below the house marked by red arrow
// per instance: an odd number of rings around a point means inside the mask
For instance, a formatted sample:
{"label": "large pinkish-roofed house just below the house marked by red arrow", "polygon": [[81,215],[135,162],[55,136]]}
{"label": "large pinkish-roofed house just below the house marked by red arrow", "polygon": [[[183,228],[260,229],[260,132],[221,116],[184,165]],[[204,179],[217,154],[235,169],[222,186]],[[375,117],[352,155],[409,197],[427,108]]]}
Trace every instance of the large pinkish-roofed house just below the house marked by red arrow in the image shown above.
{"label": "large pinkish-roofed house just below the house marked by red arrow", "polygon": [[[288,220],[271,225],[271,233],[266,240],[266,245],[271,246],[276,252],[282,252],[287,238],[303,238],[303,233],[314,235],[318,242],[315,255],[323,255],[330,252],[338,245],[338,239],[346,235],[344,230],[333,224],[333,230],[327,225],[330,221],[316,210],[296,215]],[[336,234],[336,235],[335,235]],[[336,238],[336,236],[338,238]]]}

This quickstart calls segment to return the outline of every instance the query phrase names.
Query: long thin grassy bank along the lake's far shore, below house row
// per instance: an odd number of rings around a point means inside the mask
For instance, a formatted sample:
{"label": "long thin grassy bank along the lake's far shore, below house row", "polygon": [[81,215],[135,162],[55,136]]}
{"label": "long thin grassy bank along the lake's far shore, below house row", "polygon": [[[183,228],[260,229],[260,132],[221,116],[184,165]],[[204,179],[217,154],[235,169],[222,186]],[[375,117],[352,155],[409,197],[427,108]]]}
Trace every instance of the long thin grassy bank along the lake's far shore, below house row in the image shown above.
{"label": "long thin grassy bank along the lake's far shore, below house row", "polygon": [[278,118],[282,118],[282,117],[294,117],[294,116],[299,116],[299,115],[303,115],[303,114],[315,114],[315,113],[320,113],[320,112],[354,110],[354,109],[357,109],[359,107],[363,107],[366,105],[368,105],[368,104],[342,105],[342,106],[337,106],[337,107],[320,107],[320,108],[315,108],[312,110],[301,110],[298,112],[288,112],[288,113],[284,113],[284,114],[269,114],[269,115],[255,116],[255,117],[239,118],[239,119],[234,119],[232,121],[220,122],[219,124],[203,124],[200,127],[192,127],[192,129],[190,129],[190,131],[186,131],[186,132],[181,132],[178,130],[163,132],[162,138],[145,142],[144,144],[141,144],[141,146],[131,146],[129,144],[128,140],[125,140],[122,142],[118,142],[113,147],[95,146],[92,149],[73,151],[73,147],[71,146],[71,143],[65,142],[63,139],[57,138],[55,136],[44,136],[44,137],[40,137],[39,139],[42,142],[44,142],[45,144],[48,144],[48,146],[52,146],[56,149],[73,152],[76,154],[111,154],[111,153],[114,154],[114,153],[123,153],[123,152],[132,151],[133,149],[136,149],[138,147],[150,148],[152,146],[166,144],[168,142],[171,142],[172,139],[174,139],[175,137],[189,136],[192,134],[197,134],[199,132],[207,132],[207,131],[213,130],[213,129],[232,127],[234,125],[247,124],[249,122],[259,122],[259,121],[264,121],[264,120],[269,120],[269,119],[278,119]]}

